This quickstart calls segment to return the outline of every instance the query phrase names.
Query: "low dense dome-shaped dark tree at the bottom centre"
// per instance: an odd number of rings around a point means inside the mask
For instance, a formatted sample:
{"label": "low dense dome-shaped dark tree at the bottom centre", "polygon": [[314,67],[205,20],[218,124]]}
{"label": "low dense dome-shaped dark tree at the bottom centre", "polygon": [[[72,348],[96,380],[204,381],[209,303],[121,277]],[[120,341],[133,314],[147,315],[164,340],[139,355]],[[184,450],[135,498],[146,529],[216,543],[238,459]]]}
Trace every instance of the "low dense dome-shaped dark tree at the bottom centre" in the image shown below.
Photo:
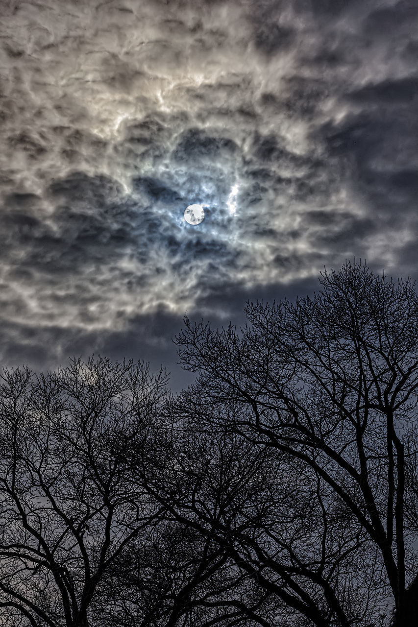
{"label": "low dense dome-shaped dark tree at the bottom centre", "polygon": [[[240,608],[245,577],[210,534],[203,536],[183,521],[164,521],[158,527],[146,544],[132,543],[115,563],[107,602],[97,610],[100,624],[226,627],[257,623]],[[254,616],[263,601],[258,589],[255,593]],[[248,586],[245,594],[248,601]]]}

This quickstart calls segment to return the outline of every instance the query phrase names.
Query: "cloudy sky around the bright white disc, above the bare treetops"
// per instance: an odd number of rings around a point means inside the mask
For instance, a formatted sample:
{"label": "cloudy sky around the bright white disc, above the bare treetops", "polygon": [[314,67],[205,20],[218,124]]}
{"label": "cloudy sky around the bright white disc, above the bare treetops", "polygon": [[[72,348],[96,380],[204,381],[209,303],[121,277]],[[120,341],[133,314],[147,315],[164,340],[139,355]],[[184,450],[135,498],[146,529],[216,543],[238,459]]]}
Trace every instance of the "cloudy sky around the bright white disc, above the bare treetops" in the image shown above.
{"label": "cloudy sky around the bright white disc, above the bare treetops", "polygon": [[0,363],[178,389],[186,311],[417,278],[417,67],[417,0],[1,0]]}

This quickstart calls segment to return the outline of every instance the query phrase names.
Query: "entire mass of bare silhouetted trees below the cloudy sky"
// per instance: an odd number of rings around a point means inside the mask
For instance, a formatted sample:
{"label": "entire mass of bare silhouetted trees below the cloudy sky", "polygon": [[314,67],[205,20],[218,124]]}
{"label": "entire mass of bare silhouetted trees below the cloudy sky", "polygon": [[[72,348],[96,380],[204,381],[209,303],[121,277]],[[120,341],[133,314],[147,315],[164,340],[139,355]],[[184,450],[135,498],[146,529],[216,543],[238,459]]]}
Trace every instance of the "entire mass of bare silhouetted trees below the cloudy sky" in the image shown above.
{"label": "entire mass of bare silhouetted trees below the cloudy sky", "polygon": [[4,370],[6,624],[415,624],[415,285],[319,282],[242,329],[185,318],[179,394],[142,362]]}

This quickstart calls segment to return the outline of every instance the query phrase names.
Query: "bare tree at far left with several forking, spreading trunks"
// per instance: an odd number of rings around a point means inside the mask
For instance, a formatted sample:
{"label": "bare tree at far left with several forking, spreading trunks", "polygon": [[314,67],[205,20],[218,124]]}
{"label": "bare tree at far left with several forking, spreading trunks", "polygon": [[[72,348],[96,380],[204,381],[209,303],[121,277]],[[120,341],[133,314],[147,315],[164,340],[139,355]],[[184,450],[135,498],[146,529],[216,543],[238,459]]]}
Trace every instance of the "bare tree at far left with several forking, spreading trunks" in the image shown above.
{"label": "bare tree at far left with several forking, spreading trunks", "polygon": [[87,627],[124,547],[163,516],[125,463],[158,452],[163,371],[73,360],[46,376],[4,371],[0,387],[2,624]]}

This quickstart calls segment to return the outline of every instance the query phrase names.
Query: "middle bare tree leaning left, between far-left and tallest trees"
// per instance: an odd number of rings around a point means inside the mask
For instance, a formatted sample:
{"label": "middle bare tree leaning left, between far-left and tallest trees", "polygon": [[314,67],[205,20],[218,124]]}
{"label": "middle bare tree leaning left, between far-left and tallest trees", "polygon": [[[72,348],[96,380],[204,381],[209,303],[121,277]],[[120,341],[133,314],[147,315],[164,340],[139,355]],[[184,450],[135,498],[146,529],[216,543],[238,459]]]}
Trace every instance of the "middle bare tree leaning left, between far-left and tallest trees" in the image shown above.
{"label": "middle bare tree leaning left, between far-left and tallest trees", "polygon": [[[164,488],[155,475],[147,488],[235,564],[218,609],[228,602],[244,624],[264,626],[370,624],[378,594],[367,588],[380,581],[378,554],[319,474],[239,433],[238,419],[250,416],[231,399],[220,405],[192,387],[171,411],[182,437]],[[211,586],[215,599],[219,588]]]}

